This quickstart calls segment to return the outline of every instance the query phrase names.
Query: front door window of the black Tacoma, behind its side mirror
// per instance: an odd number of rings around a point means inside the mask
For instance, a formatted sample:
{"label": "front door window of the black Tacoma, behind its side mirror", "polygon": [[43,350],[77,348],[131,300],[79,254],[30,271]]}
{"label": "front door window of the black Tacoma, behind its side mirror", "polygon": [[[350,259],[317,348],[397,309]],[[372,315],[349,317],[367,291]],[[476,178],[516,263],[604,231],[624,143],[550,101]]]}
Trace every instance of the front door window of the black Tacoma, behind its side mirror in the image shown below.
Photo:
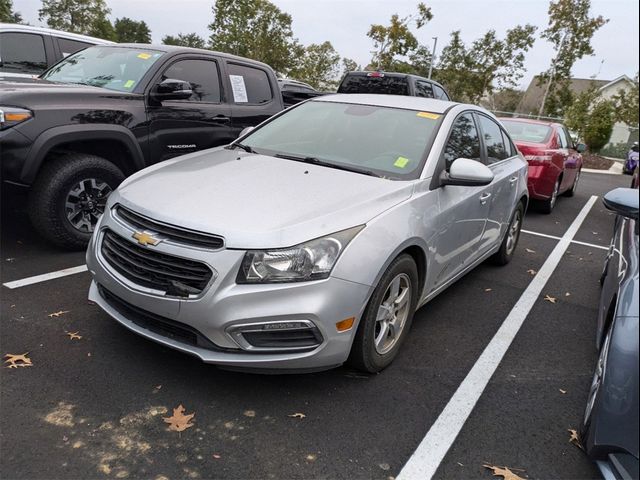
{"label": "front door window of the black Tacoma, behind its side mirror", "polygon": [[189,102],[220,103],[220,77],[213,60],[178,60],[162,74],[162,80],[172,78],[191,84]]}

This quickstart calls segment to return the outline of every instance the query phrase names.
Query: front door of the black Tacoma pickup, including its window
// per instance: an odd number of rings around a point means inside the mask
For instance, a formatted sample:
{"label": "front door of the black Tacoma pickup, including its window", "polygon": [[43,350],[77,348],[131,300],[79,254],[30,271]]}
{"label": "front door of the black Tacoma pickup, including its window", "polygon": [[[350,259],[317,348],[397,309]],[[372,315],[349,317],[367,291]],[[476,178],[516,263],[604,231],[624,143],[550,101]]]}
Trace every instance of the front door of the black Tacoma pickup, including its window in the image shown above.
{"label": "front door of the black Tacoma pickup, including its window", "polygon": [[217,61],[178,59],[165,68],[155,83],[168,78],[189,82],[193,94],[187,100],[149,100],[152,162],[226,145],[235,139],[230,128],[231,107],[222,95]]}

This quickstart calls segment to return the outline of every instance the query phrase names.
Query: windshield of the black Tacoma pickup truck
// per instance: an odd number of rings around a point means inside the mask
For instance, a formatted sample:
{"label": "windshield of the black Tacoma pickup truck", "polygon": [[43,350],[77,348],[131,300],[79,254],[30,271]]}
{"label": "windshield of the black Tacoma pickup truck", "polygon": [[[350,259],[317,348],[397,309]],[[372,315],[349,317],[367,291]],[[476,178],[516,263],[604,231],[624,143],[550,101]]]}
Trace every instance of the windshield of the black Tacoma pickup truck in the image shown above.
{"label": "windshield of the black Tacoma pickup truck", "polygon": [[69,55],[40,78],[130,92],[161,56],[162,52],[157,50],[90,47]]}

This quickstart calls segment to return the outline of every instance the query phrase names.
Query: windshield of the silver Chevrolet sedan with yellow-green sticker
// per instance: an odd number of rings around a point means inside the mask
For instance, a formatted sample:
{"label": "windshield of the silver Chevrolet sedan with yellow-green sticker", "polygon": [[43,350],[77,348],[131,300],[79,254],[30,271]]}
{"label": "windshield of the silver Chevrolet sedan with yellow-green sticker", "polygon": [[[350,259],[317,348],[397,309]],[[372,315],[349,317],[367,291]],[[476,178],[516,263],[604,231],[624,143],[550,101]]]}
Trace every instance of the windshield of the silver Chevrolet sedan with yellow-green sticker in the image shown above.
{"label": "windshield of the silver Chevrolet sedan with yellow-green sticker", "polygon": [[257,153],[399,180],[418,178],[441,114],[311,101],[242,140]]}

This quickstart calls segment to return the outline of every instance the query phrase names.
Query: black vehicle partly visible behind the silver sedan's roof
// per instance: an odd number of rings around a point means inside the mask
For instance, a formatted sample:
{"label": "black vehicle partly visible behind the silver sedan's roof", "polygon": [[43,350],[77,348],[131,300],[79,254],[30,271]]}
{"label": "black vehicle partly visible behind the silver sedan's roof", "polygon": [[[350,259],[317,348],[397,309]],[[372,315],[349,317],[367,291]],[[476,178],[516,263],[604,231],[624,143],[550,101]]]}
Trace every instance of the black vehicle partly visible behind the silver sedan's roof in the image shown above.
{"label": "black vehicle partly visible behind the silver sedan's roof", "polygon": [[442,85],[417,75],[393,72],[348,72],[338,93],[383,93],[451,100]]}

